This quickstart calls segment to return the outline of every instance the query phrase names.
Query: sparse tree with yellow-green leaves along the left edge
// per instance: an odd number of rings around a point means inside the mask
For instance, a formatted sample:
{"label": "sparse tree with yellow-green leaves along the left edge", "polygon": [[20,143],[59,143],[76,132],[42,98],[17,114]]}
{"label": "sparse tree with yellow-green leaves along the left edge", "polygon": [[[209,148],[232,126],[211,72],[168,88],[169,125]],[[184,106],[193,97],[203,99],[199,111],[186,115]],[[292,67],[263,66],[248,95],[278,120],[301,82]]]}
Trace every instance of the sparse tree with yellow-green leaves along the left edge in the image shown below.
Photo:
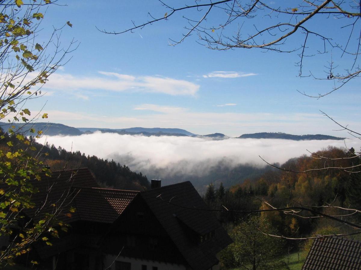
{"label": "sparse tree with yellow-green leaves along the left edge", "polygon": [[[34,220],[24,219],[23,210],[33,208],[31,194],[37,192],[29,179],[41,180],[50,174],[38,156],[30,154],[35,148],[32,140],[17,131],[13,122],[29,123],[47,118],[47,113],[31,114],[26,101],[42,95],[41,88],[48,77],[75,49],[74,42],[60,47],[60,29],[54,28],[47,39],[41,37],[40,24],[51,0],[0,0],[0,120],[8,121],[8,129],[1,131],[0,140],[0,267],[12,264],[14,258],[29,251],[38,239],[48,242],[43,233],[57,235],[56,215],[42,215]],[[68,25],[71,26],[70,22]],[[66,26],[66,23],[64,24]],[[34,138],[41,130],[29,125]],[[8,135],[9,134],[9,135]],[[4,144],[4,142],[6,144]],[[35,263],[35,262],[34,262]]]}

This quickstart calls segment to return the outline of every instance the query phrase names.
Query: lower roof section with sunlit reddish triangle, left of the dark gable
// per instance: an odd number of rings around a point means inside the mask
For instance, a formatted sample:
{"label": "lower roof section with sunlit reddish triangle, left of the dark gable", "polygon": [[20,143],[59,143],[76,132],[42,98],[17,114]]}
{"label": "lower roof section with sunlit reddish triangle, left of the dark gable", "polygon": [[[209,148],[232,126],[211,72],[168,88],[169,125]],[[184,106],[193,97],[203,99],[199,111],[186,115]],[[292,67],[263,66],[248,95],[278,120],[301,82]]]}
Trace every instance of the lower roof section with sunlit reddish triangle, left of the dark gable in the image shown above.
{"label": "lower roof section with sunlit reddish triangle, left of the dark gable", "polygon": [[75,190],[75,206],[79,219],[113,223],[139,191],[83,188]]}

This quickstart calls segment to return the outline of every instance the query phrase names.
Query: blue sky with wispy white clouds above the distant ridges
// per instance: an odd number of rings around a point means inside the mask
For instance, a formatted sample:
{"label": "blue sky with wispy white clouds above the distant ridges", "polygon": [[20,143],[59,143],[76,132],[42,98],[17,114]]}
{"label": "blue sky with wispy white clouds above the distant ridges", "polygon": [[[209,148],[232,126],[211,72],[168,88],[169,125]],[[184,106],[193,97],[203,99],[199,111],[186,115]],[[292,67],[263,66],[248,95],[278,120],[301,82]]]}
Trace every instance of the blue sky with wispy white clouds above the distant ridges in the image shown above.
{"label": "blue sky with wispy white clouds above the distant ridges", "polygon": [[[134,33],[106,35],[106,30],[123,30],[131,20],[142,22],[152,14],[164,14],[157,1],[61,1],[67,6],[49,6],[43,21],[46,37],[49,26],[70,21],[73,27],[62,31],[64,46],[74,37],[80,42],[72,59],[54,73],[43,97],[31,100],[32,111],[42,108],[50,122],[75,127],[177,127],[196,134],[221,132],[239,136],[253,132],[291,134],[330,134],[347,136],[322,116],[322,110],[335,120],[361,130],[360,83],[350,81],[342,89],[321,99],[309,94],[325,93],[332,81],[297,77],[297,53],[274,53],[261,50],[210,50],[196,43],[193,35],[182,44],[169,46],[169,38],[179,39],[187,21],[181,17],[155,23]],[[277,1],[268,1],[277,5]],[[199,16],[197,13],[188,15]],[[222,19],[212,14],[212,24]],[[262,17],[255,23],[267,23]],[[261,20],[261,21],[260,21]],[[326,27],[329,34],[331,21]],[[324,21],[314,18],[314,28]],[[252,22],[253,24],[253,22]],[[247,28],[246,30],[247,31]],[[345,32],[332,33],[344,40]],[[287,40],[297,47],[301,35]],[[310,39],[310,49],[319,47]],[[311,53],[311,52],[310,52]],[[332,51],[332,57],[338,57]],[[330,54],[307,58],[305,71],[312,69],[326,77],[323,65]],[[341,64],[350,59],[344,57]]]}

